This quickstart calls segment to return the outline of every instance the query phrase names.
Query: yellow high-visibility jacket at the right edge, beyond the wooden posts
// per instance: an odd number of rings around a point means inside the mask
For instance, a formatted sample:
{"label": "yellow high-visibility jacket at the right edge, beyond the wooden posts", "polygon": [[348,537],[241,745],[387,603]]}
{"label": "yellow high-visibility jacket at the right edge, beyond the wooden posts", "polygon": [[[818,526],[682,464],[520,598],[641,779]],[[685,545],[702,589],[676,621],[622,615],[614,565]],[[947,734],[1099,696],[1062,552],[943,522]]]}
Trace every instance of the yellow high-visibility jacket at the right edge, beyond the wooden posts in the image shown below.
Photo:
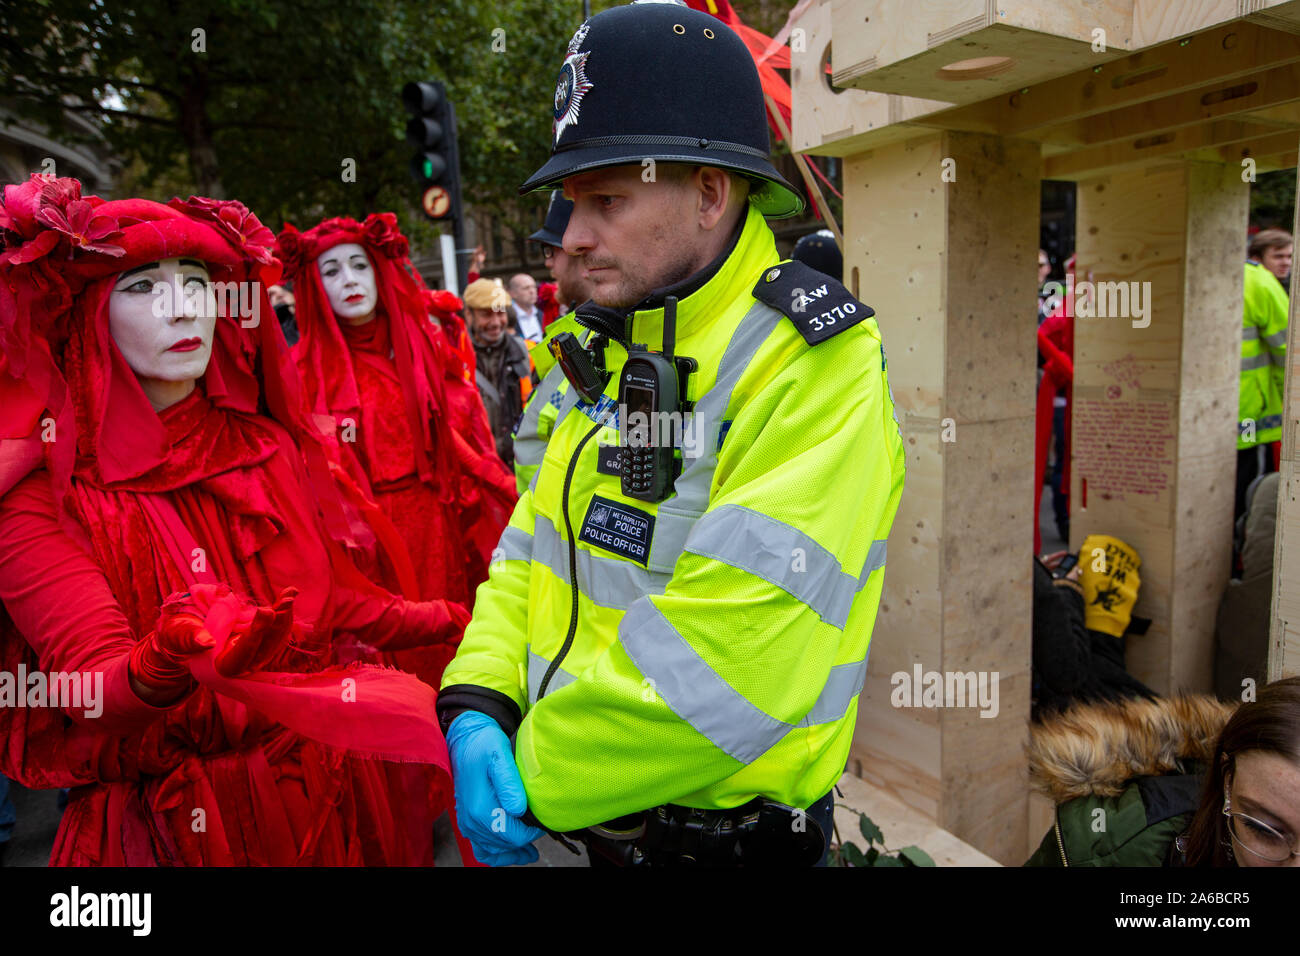
{"label": "yellow high-visibility jacket at the right edge, beyond the wooden posts", "polygon": [[[1245,264],[1244,298],[1238,449],[1282,438],[1290,310],[1286,289],[1258,263]],[[1248,421],[1254,423],[1253,441]]]}

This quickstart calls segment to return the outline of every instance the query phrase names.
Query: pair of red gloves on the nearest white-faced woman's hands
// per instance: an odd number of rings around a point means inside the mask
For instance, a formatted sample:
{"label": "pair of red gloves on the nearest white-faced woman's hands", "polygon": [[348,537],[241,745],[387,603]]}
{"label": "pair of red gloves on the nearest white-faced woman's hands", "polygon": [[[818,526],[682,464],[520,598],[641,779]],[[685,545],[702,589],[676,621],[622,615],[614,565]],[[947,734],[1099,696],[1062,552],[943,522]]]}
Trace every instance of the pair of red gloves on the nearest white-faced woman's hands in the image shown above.
{"label": "pair of red gloves on the nearest white-faced woman's hands", "polygon": [[191,682],[190,658],[216,646],[212,631],[229,631],[213,661],[217,674],[233,678],[264,666],[289,639],[296,588],[285,588],[272,607],[238,598],[224,584],[196,584],[172,594],[159,611],[157,628],[131,649],[127,670],[151,691],[172,695]]}

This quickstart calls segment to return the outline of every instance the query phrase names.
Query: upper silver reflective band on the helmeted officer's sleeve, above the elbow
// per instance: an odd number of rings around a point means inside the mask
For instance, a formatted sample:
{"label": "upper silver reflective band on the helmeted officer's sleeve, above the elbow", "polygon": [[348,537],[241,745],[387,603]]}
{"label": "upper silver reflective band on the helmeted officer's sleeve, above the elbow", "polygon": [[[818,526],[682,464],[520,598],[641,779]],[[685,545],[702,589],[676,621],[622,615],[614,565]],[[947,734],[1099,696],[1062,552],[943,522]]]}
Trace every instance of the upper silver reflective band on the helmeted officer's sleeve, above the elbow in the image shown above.
{"label": "upper silver reflective band on the helmeted officer's sleeve, above the elbow", "polygon": [[740,505],[724,505],[696,523],[686,550],[775,584],[832,627],[844,630],[853,598],[871,571],[884,566],[884,541],[874,541],[861,578],[798,528]]}

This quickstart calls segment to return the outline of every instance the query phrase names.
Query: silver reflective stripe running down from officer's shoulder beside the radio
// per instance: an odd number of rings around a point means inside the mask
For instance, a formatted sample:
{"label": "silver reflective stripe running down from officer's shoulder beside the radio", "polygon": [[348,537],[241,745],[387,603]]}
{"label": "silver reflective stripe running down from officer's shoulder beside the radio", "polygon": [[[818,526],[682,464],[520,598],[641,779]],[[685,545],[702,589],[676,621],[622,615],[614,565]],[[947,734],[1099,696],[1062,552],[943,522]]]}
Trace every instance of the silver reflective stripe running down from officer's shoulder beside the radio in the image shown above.
{"label": "silver reflective stripe running down from officer's shoulder beside the radio", "polygon": [[672,572],[686,548],[686,536],[708,507],[708,489],[718,468],[718,440],[732,392],[759,347],[784,317],[771,306],[755,302],[732,333],[718,364],[718,380],[696,405],[694,427],[696,434],[703,441],[703,453],[686,459],[681,476],[673,484],[676,496],[663,502],[655,514],[649,561],[651,571]]}

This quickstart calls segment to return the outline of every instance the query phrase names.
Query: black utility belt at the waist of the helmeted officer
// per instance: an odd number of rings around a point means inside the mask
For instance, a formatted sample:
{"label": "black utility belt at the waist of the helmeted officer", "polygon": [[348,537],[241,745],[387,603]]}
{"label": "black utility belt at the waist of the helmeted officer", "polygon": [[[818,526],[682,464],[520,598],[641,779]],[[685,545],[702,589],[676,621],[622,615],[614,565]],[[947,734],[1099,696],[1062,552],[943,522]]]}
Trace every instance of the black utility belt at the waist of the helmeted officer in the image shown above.
{"label": "black utility belt at the waist of the helmeted officer", "polygon": [[618,866],[814,866],[822,826],[766,797],[725,810],[664,804],[567,834]]}

